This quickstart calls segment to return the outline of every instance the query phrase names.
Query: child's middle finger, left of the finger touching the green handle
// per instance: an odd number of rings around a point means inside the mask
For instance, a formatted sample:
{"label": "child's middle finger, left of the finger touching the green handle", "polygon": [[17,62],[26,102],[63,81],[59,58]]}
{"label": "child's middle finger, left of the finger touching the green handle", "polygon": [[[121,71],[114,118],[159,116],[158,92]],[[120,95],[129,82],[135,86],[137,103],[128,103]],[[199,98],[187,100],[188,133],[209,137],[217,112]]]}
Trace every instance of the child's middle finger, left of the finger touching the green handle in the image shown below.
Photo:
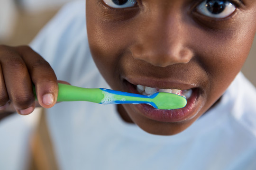
{"label": "child's middle finger, left of the finger touching the green handle", "polygon": [[30,114],[35,108],[35,98],[26,64],[14,48],[6,47],[0,51],[2,75],[9,100],[19,114]]}

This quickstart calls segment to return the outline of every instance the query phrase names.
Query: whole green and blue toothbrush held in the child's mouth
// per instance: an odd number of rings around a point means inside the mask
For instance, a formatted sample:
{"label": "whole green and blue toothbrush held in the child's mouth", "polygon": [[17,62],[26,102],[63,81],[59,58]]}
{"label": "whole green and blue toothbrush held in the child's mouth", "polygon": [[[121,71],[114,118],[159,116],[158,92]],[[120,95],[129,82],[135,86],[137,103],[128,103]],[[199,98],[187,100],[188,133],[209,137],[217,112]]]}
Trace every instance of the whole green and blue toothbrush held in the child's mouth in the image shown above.
{"label": "whole green and blue toothbrush held in the child's mouth", "polygon": [[[172,110],[185,107],[187,100],[173,93],[158,92],[152,95],[120,92],[105,88],[82,88],[73,85],[59,85],[57,102],[87,101],[99,104],[149,104],[156,109]],[[33,91],[36,96],[35,86]]]}

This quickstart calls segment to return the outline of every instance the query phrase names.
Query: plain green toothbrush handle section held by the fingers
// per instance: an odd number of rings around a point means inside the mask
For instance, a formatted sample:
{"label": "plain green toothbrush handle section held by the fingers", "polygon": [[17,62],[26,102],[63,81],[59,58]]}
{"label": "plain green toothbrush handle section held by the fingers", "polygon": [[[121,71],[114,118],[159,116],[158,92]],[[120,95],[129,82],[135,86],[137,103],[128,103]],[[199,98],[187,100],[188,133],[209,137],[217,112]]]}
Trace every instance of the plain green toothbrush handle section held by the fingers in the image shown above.
{"label": "plain green toothbrush handle section held by the fingers", "polygon": [[[57,102],[87,101],[100,103],[104,98],[104,94],[99,88],[82,88],[61,83],[59,83],[58,85],[59,93]],[[34,85],[33,91],[35,97],[37,97]]]}

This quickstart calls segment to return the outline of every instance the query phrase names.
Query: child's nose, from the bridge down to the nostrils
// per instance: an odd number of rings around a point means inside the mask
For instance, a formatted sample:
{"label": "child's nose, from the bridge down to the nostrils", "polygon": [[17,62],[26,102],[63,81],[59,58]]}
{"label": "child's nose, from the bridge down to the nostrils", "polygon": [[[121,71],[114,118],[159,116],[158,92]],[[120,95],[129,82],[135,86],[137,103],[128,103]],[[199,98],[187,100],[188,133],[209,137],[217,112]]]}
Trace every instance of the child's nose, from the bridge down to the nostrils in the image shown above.
{"label": "child's nose, from the bridge down to the nostrils", "polygon": [[150,19],[142,19],[139,28],[143,29],[137,29],[137,39],[131,47],[135,59],[157,67],[185,64],[192,59],[193,51],[187,43],[188,26],[179,13],[167,16],[152,14]]}

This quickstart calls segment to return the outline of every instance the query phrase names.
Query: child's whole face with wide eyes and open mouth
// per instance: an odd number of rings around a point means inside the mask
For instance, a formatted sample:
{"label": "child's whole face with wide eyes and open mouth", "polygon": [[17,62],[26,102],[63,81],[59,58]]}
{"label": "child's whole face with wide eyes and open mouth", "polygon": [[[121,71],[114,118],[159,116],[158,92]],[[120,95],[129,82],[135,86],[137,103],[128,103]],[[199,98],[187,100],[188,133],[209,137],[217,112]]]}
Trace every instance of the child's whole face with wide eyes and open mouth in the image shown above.
{"label": "child's whole face with wide eyes and open mouth", "polygon": [[119,105],[123,119],[158,135],[183,131],[218,101],[256,33],[255,0],[87,0],[86,17],[93,59],[111,88],[186,95],[177,110]]}

